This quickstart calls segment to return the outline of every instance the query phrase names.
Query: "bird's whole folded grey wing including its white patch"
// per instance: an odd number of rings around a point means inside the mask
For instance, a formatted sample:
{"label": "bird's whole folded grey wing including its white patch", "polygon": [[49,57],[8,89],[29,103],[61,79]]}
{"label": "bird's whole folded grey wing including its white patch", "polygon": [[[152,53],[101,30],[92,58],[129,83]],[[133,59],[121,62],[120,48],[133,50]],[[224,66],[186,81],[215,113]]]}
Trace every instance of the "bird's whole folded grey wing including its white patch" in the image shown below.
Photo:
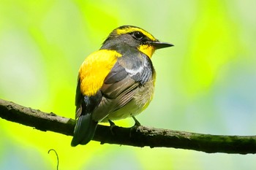
{"label": "bird's whole folded grey wing including its white patch", "polygon": [[131,101],[138,87],[152,77],[151,70],[148,66],[144,66],[143,62],[134,69],[125,69],[117,62],[102,85],[102,101],[94,110],[93,120],[101,121],[110,112],[124,107]]}

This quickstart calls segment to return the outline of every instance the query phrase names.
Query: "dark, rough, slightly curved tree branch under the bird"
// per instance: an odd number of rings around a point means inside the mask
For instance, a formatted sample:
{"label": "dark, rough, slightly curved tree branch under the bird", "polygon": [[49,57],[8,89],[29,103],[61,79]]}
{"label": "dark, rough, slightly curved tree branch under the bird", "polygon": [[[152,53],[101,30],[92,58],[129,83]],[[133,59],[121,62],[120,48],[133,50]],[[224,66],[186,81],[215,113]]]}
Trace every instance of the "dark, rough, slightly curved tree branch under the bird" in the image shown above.
{"label": "dark, rough, slightly curved tree branch under the bird", "polygon": [[[23,107],[0,99],[0,117],[15,123],[29,125],[40,131],[54,131],[72,136],[75,120],[60,117],[54,113]],[[171,131],[159,128],[138,126],[121,128],[114,126],[112,131],[105,125],[98,125],[94,140],[102,144],[124,144],[135,147],[174,147],[203,152],[256,153],[256,136],[221,136],[196,134],[184,131]]]}

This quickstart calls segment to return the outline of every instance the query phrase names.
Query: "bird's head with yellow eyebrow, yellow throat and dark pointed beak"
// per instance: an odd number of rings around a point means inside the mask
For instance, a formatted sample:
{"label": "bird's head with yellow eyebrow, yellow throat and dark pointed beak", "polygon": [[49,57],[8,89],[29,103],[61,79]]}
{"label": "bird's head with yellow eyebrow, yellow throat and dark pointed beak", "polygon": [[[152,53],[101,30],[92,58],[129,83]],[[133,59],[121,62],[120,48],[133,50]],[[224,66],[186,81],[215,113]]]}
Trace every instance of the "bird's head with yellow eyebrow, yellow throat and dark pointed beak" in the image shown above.
{"label": "bird's head with yellow eyebrow, yellow throat and dark pointed beak", "polygon": [[[122,50],[124,45],[135,47],[140,52],[148,55],[149,58],[159,48],[173,46],[167,42],[159,42],[147,31],[136,26],[120,26],[114,29],[108,38],[103,42],[102,49]],[[124,49],[125,50],[125,49]]]}

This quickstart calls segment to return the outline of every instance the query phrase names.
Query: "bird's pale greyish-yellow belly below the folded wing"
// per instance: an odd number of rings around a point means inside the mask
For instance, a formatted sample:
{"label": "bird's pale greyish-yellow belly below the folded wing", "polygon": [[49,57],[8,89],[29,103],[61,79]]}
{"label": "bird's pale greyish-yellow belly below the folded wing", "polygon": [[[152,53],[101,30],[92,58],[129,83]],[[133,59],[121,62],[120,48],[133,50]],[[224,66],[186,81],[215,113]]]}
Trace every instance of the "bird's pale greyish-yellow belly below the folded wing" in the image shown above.
{"label": "bird's pale greyish-yellow belly below the folded wing", "polygon": [[148,107],[151,99],[154,96],[154,81],[151,80],[146,82],[145,85],[138,88],[138,92],[135,93],[132,100],[129,101],[124,107],[111,112],[108,117],[105,117],[102,122],[107,122],[108,120],[120,120],[127,117],[132,117],[138,115],[143,109]]}

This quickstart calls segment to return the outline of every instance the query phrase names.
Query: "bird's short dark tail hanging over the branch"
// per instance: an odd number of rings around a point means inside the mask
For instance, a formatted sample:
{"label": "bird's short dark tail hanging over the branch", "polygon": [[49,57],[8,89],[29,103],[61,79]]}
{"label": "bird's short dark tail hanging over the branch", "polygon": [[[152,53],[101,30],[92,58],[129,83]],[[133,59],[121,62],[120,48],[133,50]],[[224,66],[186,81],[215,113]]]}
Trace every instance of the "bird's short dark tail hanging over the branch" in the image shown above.
{"label": "bird's short dark tail hanging over the branch", "polygon": [[90,142],[94,137],[97,124],[97,122],[91,119],[91,114],[80,115],[75,125],[71,146],[75,147],[78,144],[87,144]]}

